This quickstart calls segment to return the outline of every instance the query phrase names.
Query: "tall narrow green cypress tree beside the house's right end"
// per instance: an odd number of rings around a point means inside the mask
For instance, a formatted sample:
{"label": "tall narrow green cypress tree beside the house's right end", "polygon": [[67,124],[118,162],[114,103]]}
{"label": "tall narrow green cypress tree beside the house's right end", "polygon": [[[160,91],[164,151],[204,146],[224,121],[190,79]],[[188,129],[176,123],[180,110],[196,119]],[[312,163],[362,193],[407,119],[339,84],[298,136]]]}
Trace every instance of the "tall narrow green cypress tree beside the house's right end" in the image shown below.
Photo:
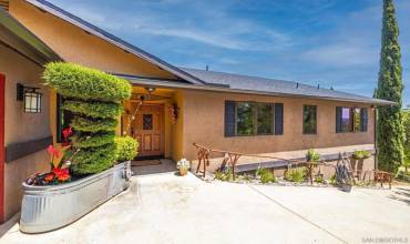
{"label": "tall narrow green cypress tree beside the house's right end", "polygon": [[393,0],[383,0],[382,21],[379,82],[375,96],[398,104],[378,109],[378,163],[380,170],[396,173],[403,162],[404,136],[401,114],[401,53]]}

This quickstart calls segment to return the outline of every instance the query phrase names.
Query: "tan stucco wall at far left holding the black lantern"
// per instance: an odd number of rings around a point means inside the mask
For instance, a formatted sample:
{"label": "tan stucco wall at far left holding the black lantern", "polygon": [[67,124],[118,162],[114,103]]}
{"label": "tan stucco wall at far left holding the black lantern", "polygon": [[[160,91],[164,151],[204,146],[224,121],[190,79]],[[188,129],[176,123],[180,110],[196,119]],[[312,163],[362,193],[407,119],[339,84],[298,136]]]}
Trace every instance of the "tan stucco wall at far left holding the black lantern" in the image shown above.
{"label": "tan stucco wall at far left holding the black lantern", "polygon": [[[6,124],[4,143],[25,142],[51,135],[49,123],[49,90],[40,84],[42,68],[28,61],[10,49],[0,45],[0,72],[6,74]],[[16,100],[17,83],[41,88],[41,113],[24,113],[22,102]],[[48,169],[45,150],[4,165],[4,216],[19,211],[21,182],[29,175]]]}

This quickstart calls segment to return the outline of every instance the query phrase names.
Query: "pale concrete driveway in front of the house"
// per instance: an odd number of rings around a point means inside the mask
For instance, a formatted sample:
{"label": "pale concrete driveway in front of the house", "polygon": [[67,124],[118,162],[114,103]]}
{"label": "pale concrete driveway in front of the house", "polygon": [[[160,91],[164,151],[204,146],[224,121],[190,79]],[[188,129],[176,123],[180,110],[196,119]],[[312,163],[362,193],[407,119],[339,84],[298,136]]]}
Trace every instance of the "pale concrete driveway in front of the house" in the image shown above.
{"label": "pale concrete driveway in front of the house", "polygon": [[9,223],[0,243],[407,243],[409,223],[410,187],[348,194],[167,173],[137,176],[127,192],[59,231],[27,235]]}

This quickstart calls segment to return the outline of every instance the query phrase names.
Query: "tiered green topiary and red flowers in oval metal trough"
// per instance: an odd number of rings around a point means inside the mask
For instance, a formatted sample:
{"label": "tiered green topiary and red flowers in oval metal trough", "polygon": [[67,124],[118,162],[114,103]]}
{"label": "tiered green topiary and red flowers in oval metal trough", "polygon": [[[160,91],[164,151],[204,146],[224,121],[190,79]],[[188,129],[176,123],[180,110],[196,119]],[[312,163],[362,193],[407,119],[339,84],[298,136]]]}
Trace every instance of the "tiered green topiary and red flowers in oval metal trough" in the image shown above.
{"label": "tiered green topiary and red flowers in oval metal trough", "polygon": [[121,102],[131,95],[126,80],[63,62],[47,64],[43,79],[63,96],[62,109],[73,119],[63,131],[63,159],[53,162],[62,153],[49,146],[50,172],[22,183],[20,230],[25,233],[68,225],[126,190],[137,150],[134,139],[115,136]]}

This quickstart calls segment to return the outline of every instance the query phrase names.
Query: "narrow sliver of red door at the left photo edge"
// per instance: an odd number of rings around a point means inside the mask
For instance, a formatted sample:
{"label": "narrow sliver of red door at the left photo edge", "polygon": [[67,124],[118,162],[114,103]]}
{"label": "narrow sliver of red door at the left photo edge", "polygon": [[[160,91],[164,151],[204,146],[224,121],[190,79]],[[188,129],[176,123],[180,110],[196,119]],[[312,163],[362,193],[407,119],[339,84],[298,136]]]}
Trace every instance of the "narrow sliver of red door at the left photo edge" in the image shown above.
{"label": "narrow sliver of red door at the left photo edge", "polygon": [[4,221],[4,92],[6,77],[0,73],[0,223]]}

